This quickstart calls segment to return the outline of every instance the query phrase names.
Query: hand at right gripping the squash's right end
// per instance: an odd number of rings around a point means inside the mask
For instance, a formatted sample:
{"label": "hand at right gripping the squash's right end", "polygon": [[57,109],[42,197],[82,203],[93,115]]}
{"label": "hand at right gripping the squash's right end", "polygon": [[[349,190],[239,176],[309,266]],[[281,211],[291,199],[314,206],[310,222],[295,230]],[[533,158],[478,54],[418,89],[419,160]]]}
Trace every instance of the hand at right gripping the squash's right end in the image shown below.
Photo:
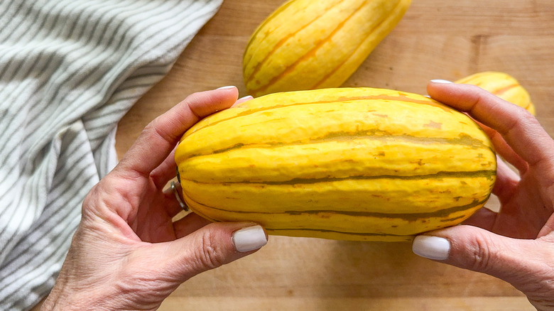
{"label": "hand at right gripping the squash's right end", "polygon": [[430,82],[428,94],[482,124],[519,174],[499,159],[500,211],[483,208],[463,225],[418,236],[413,251],[506,280],[538,310],[554,310],[554,141],[525,109],[479,87]]}

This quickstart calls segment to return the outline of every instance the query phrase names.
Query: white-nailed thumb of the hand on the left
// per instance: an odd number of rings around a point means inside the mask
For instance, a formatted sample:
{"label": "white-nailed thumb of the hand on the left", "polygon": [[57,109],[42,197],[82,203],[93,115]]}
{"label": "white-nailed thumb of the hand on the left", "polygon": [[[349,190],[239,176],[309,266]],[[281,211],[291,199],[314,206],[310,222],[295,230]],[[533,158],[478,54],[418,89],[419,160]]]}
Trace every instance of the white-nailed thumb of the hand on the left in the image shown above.
{"label": "white-nailed thumb of the hand on the left", "polygon": [[267,235],[259,225],[218,222],[161,246],[163,271],[184,282],[198,273],[254,253],[266,245]]}

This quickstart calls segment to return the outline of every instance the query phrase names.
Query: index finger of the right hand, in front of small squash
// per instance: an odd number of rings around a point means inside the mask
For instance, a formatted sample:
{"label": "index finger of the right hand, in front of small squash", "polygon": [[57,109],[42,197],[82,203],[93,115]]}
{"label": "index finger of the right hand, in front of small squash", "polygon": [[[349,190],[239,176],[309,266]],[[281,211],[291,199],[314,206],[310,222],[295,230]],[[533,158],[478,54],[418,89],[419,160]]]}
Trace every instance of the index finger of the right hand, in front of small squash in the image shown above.
{"label": "index finger of the right hand, in front of small squash", "polygon": [[430,82],[427,92],[433,99],[465,111],[498,131],[529,165],[554,159],[554,141],[525,109],[469,84]]}

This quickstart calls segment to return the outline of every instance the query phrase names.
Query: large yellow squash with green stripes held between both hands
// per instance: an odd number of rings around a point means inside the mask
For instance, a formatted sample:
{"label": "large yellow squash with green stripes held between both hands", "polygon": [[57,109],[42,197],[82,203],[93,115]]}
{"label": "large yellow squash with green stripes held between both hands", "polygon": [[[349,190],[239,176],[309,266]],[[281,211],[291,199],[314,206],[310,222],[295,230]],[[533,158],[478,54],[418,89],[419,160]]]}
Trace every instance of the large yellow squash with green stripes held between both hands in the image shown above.
{"label": "large yellow squash with green stripes held between both hands", "polygon": [[269,94],[203,119],[175,152],[183,197],[269,234],[407,241],[487,202],[488,137],[458,111],[387,89]]}

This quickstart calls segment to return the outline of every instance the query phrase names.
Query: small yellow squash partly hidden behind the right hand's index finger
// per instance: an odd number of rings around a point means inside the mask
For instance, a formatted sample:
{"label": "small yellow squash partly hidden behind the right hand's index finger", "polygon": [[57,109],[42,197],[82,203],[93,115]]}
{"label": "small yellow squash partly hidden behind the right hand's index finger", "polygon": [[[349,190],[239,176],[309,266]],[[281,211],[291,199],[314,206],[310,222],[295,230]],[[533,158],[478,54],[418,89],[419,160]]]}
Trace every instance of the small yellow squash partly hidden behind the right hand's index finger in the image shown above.
{"label": "small yellow squash partly hidden behind the right hand's index finger", "polygon": [[518,80],[507,73],[494,71],[479,72],[457,80],[456,83],[477,85],[504,99],[506,102],[516,104],[527,109],[531,114],[535,114],[535,105],[531,102],[531,97],[527,90],[519,84]]}

